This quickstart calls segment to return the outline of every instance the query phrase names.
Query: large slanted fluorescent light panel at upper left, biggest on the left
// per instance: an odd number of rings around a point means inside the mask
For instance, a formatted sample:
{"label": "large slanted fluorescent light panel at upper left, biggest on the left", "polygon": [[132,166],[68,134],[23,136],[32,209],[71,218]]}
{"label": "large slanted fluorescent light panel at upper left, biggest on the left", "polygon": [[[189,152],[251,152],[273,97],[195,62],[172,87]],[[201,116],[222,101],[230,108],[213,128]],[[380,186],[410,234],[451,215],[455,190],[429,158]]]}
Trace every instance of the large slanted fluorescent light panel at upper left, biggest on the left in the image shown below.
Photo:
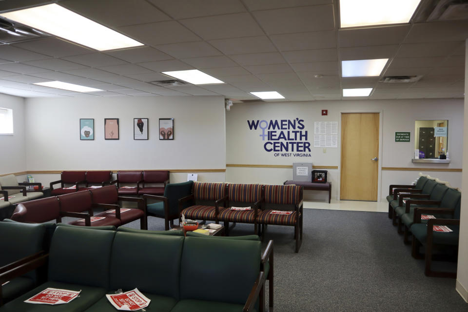
{"label": "large slanted fluorescent light panel at upper left, biggest on the left", "polygon": [[143,45],[55,3],[1,13],[0,16],[98,51]]}

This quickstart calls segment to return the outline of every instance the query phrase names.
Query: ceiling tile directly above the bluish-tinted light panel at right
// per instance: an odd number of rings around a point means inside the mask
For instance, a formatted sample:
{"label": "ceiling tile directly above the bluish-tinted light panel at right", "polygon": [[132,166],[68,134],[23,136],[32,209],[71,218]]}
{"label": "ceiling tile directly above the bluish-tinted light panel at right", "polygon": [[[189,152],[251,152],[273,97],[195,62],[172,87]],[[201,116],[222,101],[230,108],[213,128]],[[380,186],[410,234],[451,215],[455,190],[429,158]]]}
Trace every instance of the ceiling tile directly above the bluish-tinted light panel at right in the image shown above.
{"label": "ceiling tile directly above the bluish-tinted light panel at right", "polygon": [[340,60],[391,59],[397,50],[398,44],[339,48]]}

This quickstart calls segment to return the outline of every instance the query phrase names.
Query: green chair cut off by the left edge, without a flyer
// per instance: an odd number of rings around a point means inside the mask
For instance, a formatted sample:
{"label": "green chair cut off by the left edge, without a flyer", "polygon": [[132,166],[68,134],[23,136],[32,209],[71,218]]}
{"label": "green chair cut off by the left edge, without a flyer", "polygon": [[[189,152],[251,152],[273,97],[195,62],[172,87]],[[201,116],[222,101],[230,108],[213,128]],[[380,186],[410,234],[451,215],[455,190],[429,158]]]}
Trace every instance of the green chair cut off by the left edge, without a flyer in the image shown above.
{"label": "green chair cut off by the left edge, without a flyer", "polygon": [[[0,273],[7,272],[35,256],[43,250],[46,227],[42,224],[0,222]],[[0,304],[6,303],[36,286],[35,271],[28,272],[11,280],[0,280]],[[1,286],[1,284],[6,283]]]}

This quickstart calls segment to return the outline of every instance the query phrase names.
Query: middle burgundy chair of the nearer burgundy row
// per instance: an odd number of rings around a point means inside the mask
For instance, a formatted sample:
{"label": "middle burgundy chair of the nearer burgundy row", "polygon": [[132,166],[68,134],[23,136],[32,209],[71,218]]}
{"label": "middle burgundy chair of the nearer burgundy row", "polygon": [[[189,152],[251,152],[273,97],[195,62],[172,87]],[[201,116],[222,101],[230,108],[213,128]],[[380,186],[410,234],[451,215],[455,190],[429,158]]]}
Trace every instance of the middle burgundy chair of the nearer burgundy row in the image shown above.
{"label": "middle burgundy chair of the nearer burgundy row", "polygon": [[80,218],[77,221],[68,222],[68,224],[79,226],[114,225],[115,227],[120,225],[120,220],[115,216],[105,216],[103,219],[91,222],[93,203],[91,200],[91,193],[88,190],[86,190],[86,192],[60,195],[58,198],[60,214],[62,216]]}

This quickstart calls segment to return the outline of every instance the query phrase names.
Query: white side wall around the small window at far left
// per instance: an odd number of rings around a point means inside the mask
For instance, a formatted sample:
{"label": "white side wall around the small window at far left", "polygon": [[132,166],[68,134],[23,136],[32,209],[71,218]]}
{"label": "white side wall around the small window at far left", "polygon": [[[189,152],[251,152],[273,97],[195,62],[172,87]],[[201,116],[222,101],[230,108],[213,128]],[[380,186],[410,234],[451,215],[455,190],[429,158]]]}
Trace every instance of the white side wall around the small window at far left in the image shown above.
{"label": "white side wall around the small window at far left", "polygon": [[0,175],[25,171],[24,98],[0,94],[0,107],[13,110],[13,135],[0,135]]}

